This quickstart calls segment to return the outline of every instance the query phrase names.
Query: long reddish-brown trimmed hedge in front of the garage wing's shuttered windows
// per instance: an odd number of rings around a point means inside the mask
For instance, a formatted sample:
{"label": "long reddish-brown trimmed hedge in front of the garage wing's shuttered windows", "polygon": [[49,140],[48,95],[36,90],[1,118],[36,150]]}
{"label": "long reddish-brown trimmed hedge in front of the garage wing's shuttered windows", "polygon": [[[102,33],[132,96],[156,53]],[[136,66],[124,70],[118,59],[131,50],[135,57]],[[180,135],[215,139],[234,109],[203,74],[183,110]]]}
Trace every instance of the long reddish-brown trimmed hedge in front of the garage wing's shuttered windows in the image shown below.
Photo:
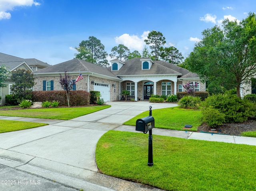
{"label": "long reddish-brown trimmed hedge in front of the garage wing's shuttered windows", "polygon": [[[82,106],[90,104],[90,93],[87,91],[70,91],[70,106]],[[66,91],[33,91],[33,102],[59,101],[59,106],[68,105]]]}

